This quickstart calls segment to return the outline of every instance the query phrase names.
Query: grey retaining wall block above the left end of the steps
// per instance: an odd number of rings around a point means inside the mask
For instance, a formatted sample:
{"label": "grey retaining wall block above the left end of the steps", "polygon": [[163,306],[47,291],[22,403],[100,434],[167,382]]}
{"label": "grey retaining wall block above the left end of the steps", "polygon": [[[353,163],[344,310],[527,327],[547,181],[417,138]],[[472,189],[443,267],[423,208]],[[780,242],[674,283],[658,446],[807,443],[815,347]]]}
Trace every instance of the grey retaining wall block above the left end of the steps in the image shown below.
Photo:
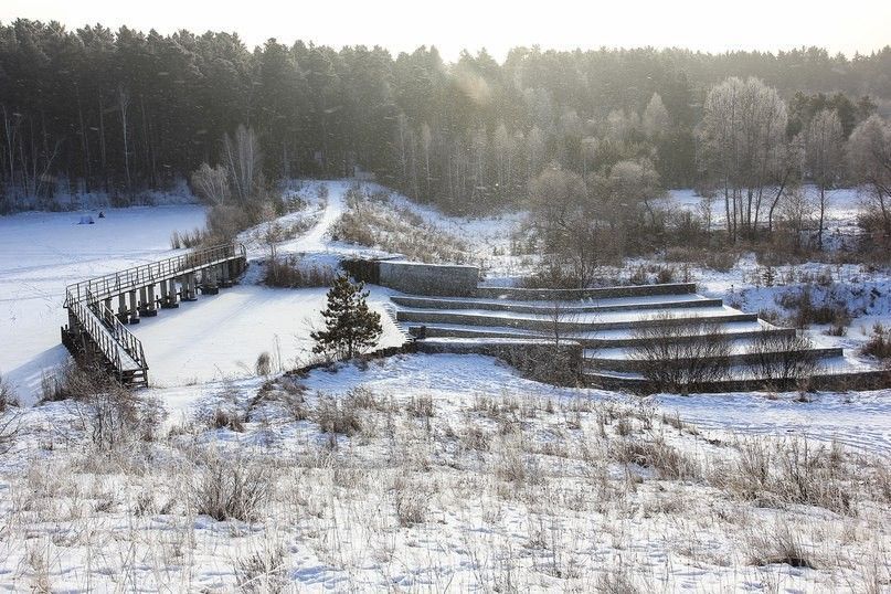
{"label": "grey retaining wall block above the left end of the steps", "polygon": [[379,263],[379,283],[414,295],[468,296],[476,291],[479,268],[415,262]]}

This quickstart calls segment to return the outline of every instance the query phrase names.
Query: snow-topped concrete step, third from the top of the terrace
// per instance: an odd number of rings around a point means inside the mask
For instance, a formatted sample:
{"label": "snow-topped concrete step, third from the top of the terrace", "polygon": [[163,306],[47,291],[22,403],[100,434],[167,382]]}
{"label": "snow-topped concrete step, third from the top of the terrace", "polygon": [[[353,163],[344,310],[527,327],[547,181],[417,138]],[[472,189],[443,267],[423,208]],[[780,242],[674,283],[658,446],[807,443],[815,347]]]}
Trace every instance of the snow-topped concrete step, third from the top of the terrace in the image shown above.
{"label": "snow-topped concrete step, third from the top of the terrace", "polygon": [[545,315],[497,312],[481,309],[473,310],[429,310],[429,309],[400,309],[396,320],[418,325],[464,325],[519,328],[534,331],[553,331],[554,327],[564,331],[593,331],[619,328],[651,328],[657,326],[719,323],[731,321],[756,321],[757,315],[743,314],[726,306],[707,307],[691,310],[690,316],[678,318],[654,317],[653,312],[629,311],[609,314],[579,314],[565,319],[554,320]]}

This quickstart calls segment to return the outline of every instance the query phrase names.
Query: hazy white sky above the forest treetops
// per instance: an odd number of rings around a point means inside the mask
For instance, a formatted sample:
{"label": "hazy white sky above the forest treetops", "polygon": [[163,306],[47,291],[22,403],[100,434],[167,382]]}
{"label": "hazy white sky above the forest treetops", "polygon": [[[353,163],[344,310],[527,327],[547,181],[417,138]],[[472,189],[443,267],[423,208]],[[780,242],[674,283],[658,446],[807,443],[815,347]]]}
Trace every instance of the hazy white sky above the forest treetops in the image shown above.
{"label": "hazy white sky above the forest treetops", "polygon": [[852,55],[891,44],[891,0],[2,0],[0,21],[100,22],[161,33],[236,31],[248,46],[268,38],[340,47],[426,44],[453,60],[462,49],[644,45],[693,50],[787,50],[820,45]]}

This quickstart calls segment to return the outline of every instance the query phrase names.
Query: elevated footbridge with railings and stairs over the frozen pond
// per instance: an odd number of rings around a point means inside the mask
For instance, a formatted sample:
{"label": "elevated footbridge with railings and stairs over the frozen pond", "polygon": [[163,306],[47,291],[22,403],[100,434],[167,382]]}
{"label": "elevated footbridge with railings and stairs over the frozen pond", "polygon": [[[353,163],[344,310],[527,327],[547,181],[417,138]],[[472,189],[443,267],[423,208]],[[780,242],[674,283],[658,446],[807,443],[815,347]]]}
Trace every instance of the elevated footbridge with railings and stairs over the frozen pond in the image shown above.
{"label": "elevated footbridge with railings and stairs over the frozen pond", "polygon": [[78,362],[102,364],[124,384],[148,385],[142,343],[125,325],[157,316],[159,308],[179,307],[181,300],[193,301],[199,290],[215,295],[246,267],[244,245],[231,244],[70,285],[62,343]]}

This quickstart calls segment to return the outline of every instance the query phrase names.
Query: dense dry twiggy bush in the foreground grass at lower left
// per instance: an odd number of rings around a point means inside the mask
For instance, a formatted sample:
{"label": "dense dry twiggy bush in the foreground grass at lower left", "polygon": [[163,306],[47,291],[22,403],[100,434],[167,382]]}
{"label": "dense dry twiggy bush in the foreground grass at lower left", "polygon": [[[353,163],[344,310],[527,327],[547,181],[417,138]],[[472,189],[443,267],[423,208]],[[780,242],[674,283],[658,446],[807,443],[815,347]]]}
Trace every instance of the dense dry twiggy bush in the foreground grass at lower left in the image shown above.
{"label": "dense dry twiggy bush in the foreground grass at lower left", "polygon": [[266,468],[242,457],[223,459],[209,455],[201,460],[197,476],[192,506],[197,513],[218,521],[256,519],[273,487]]}

